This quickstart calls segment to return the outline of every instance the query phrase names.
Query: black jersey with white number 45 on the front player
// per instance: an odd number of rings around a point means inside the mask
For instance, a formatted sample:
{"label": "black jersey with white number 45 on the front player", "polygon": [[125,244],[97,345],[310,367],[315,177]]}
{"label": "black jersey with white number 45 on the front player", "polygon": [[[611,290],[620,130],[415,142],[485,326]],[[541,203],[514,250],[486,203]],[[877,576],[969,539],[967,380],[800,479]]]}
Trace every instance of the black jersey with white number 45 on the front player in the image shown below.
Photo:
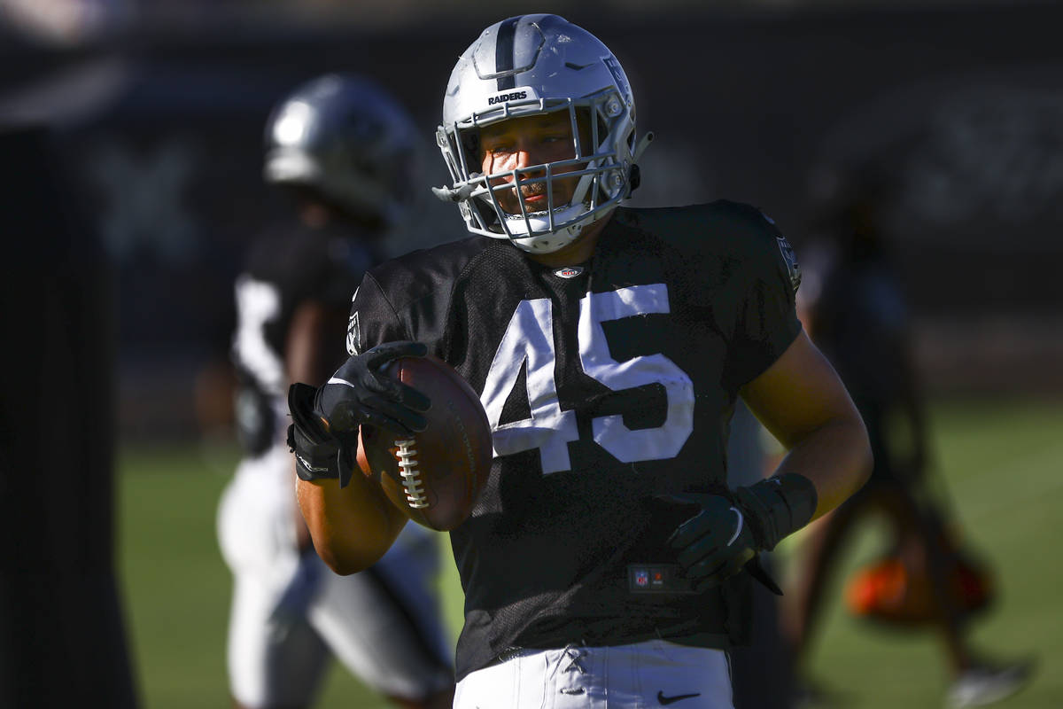
{"label": "black jersey with white number 45 on the front player", "polygon": [[618,208],[569,268],[477,236],[367,274],[349,349],[425,342],[493,429],[486,489],[451,533],[459,678],[514,646],[726,646],[725,592],[637,593],[629,572],[674,561],[664,539],[690,516],[655,495],[726,491],[738,390],[797,336],[797,274],[773,223],[731,202]]}

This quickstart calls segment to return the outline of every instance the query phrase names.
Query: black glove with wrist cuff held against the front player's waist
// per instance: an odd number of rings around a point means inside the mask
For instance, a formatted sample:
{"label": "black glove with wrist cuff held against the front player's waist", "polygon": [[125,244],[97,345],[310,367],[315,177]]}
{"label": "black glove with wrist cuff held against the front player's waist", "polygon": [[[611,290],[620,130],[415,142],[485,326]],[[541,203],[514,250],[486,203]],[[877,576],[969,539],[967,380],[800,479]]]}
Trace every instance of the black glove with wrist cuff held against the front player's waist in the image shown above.
{"label": "black glove with wrist cuff held against the front player's waist", "polygon": [[668,543],[678,552],[679,564],[698,593],[745,568],[781,595],[757,555],[808,524],[815,512],[815,487],[807,477],[788,473],[739,488],[735,497],[710,495],[702,501],[701,511],[680,524]]}

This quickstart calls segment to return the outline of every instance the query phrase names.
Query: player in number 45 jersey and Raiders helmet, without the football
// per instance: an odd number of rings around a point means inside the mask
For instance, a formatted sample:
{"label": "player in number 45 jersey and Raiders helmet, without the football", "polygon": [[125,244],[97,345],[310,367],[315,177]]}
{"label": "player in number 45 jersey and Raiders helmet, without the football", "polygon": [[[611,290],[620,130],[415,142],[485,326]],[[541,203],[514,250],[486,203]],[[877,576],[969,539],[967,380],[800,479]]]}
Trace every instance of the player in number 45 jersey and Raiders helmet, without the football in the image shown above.
{"label": "player in number 45 jersey and Raiders helmet, without the football", "polygon": [[[749,629],[752,579],[774,586],[757,554],[871,467],[863,423],[795,315],[793,251],[750,206],[621,206],[651,134],[613,53],[556,15],[478,36],[436,139],[452,178],[437,196],[471,236],[370,270],[351,357],[332,383],[289,391],[315,545],[351,573],[403,528],[372,480],[335,479],[353,431],[331,416],[423,429],[431,402],[379,367],[431,352],[478,392],[494,442],[451,531],[455,706],[731,707],[726,651]],[[738,396],[790,452],[732,489]]]}

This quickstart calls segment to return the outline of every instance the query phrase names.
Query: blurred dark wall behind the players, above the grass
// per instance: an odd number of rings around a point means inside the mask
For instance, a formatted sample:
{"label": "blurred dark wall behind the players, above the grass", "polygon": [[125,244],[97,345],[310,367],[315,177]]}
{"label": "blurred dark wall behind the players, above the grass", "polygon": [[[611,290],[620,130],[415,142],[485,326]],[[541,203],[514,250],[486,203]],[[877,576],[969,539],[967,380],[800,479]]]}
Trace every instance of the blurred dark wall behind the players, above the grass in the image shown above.
{"label": "blurred dark wall behind the players, above the grass", "polygon": [[[287,216],[259,179],[273,102],[327,70],[374,77],[423,128],[428,181],[441,184],[432,136],[453,63],[483,27],[526,11],[414,0],[13,10],[26,2],[0,2],[0,122],[52,128],[114,264],[126,439],[198,433],[195,392],[225,356],[240,253]],[[1063,392],[1063,6],[646,4],[547,7],[614,51],[640,131],[657,133],[635,203],[746,201],[800,257],[847,185],[885,175],[882,226],[930,390]],[[64,15],[71,5],[98,12]],[[423,192],[422,225],[393,252],[461,236],[456,210]]]}

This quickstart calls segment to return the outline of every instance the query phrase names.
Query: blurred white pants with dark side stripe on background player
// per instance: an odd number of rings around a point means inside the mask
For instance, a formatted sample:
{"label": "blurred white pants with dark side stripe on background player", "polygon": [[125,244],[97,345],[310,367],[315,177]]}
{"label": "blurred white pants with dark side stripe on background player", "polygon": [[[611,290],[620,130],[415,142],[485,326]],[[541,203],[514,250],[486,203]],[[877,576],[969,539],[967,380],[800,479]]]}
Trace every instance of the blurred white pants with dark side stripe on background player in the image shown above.
{"label": "blurred white pants with dark side stripe on background player", "polygon": [[[300,570],[291,454],[276,446],[244,460],[218,510],[222,556],[233,572],[227,665],[248,707],[308,705],[334,655],[367,686],[407,698],[454,681],[453,651],[434,591],[439,536],[414,523],[372,569],[334,574],[317,555]],[[315,579],[294,594],[301,611],[277,621],[297,571]],[[320,573],[318,573],[320,572]]]}

